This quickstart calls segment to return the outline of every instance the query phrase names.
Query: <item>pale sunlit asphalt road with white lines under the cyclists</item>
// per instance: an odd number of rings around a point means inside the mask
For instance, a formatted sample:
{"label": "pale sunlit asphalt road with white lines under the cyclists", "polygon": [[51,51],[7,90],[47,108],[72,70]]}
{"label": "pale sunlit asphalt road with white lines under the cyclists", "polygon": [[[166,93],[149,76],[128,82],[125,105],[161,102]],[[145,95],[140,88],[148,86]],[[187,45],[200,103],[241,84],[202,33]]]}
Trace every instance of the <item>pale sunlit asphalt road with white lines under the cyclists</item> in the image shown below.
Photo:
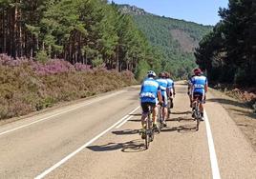
{"label": "pale sunlit asphalt road with white lines under the cyclists", "polygon": [[0,127],[0,178],[256,178],[256,154],[215,97],[196,122],[177,85],[175,107],[149,149],[139,87],[106,93]]}

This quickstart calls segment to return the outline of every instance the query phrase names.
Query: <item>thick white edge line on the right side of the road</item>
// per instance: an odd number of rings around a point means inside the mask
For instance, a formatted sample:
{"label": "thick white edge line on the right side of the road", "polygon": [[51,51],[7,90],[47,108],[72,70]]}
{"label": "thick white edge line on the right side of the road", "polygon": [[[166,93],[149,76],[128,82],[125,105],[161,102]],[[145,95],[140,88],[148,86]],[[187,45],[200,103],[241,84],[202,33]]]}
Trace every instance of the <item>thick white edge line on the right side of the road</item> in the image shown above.
{"label": "thick white edge line on the right side of the road", "polygon": [[205,121],[206,132],[207,132],[208,148],[209,148],[209,152],[210,152],[212,178],[213,179],[221,179],[220,170],[218,167],[217,156],[216,156],[216,152],[214,149],[214,142],[213,142],[212,132],[211,132],[211,128],[210,128],[210,123],[209,123],[209,119],[208,119],[205,109],[204,109],[204,121]]}

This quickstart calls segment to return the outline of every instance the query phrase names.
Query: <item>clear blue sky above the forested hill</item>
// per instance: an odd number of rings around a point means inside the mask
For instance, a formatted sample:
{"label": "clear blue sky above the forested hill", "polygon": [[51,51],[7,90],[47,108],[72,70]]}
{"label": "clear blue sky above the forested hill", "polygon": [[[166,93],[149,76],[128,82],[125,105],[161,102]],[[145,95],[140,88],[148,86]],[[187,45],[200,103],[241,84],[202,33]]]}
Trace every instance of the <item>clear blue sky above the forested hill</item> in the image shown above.
{"label": "clear blue sky above the forested hill", "polygon": [[117,4],[135,5],[148,12],[203,25],[220,21],[218,10],[226,8],[228,0],[114,0]]}

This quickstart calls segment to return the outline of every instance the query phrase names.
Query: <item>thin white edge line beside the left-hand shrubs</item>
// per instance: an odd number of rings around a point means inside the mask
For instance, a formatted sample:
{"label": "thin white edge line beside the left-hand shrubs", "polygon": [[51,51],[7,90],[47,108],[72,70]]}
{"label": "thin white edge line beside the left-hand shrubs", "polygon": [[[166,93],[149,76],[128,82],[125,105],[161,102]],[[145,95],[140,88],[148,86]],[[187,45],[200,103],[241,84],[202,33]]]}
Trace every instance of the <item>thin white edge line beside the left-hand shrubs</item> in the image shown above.
{"label": "thin white edge line beside the left-hand shrubs", "polygon": [[95,101],[92,101],[92,102],[89,102],[89,103],[86,103],[86,104],[79,105],[79,106],[77,106],[77,107],[75,107],[75,108],[65,109],[65,110],[60,111],[60,112],[57,112],[57,113],[55,113],[55,114],[53,114],[53,115],[51,115],[51,116],[49,116],[49,117],[45,117],[45,118],[39,119],[39,120],[37,120],[37,121],[34,121],[34,122],[30,123],[30,124],[23,125],[23,126],[14,128],[14,129],[9,129],[9,130],[3,131],[3,132],[0,133],[0,136],[1,136],[1,135],[4,135],[4,134],[7,134],[7,133],[10,133],[11,131],[14,131],[14,130],[17,130],[17,129],[23,129],[23,128],[32,126],[33,124],[36,124],[36,123],[39,123],[39,122],[42,122],[42,121],[51,119],[51,118],[53,118],[53,117],[55,117],[55,116],[57,116],[57,115],[61,115],[61,114],[63,114],[63,113],[67,113],[67,112],[69,112],[69,111],[72,111],[72,110],[75,110],[75,109],[79,109],[79,108],[82,108],[82,107],[86,107],[86,106],[88,106],[88,105],[91,105],[91,104],[96,103],[96,102],[98,102],[98,101],[101,101],[101,100],[103,100],[103,99],[107,99],[107,98],[109,98],[109,97],[112,97],[112,96],[114,96],[114,95],[117,95],[117,94],[119,94],[119,93],[121,93],[121,92],[123,92],[123,90],[117,91],[117,92],[115,92],[115,93],[113,93],[113,94],[110,94],[110,95],[108,95],[108,96],[101,97],[101,98],[99,98],[99,99],[97,99],[97,100],[95,100]]}

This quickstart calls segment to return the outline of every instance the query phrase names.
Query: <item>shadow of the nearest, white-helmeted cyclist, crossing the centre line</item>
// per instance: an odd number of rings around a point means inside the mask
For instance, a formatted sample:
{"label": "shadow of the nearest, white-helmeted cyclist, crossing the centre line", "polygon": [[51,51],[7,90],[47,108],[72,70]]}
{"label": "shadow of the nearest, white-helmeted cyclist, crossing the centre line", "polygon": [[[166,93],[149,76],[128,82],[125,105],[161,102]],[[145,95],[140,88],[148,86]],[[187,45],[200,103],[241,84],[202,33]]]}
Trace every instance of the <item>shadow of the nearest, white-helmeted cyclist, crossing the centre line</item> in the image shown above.
{"label": "shadow of the nearest, white-helmeted cyclist, crossing the centre line", "polygon": [[133,140],[126,143],[108,143],[101,146],[89,146],[87,149],[93,151],[104,152],[120,149],[122,152],[139,152],[145,150],[144,144],[141,140]]}

